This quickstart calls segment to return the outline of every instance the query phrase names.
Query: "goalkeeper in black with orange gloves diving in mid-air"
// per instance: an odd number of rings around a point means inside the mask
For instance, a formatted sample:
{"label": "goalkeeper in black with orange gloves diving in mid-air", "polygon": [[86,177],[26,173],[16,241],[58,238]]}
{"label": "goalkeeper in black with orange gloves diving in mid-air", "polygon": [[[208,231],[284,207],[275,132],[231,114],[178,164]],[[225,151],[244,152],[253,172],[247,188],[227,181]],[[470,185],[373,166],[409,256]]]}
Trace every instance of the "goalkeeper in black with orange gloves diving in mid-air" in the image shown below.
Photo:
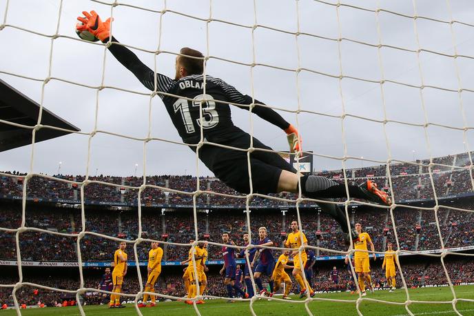
{"label": "goalkeeper in black with orange gloves diving in mid-air", "polygon": [[[146,88],[156,91],[161,97],[165,108],[172,119],[174,127],[189,148],[196,152],[199,159],[214,172],[214,175],[234,190],[249,194],[293,192],[301,193],[304,197],[333,201],[337,197],[347,197],[344,184],[317,175],[299,175],[293,166],[276,152],[271,150],[258,139],[234,125],[231,119],[229,104],[245,110],[250,110],[271,124],[278,126],[287,133],[291,152],[300,154],[301,138],[298,130],[276,111],[265,106],[265,103],[243,95],[225,81],[212,76],[203,76],[204,56],[197,50],[182,48],[176,57],[176,75],[174,79],[155,73],[145,66],[138,57],[124,46],[117,45],[118,41],[110,37],[110,21],[101,21],[94,12],[83,11],[84,17],[77,19],[82,22],[76,26],[79,32],[88,31],[103,43],[112,45],[108,48],[112,55],[125,68],[130,70]],[[156,87],[155,87],[156,80]],[[203,145],[198,147],[203,132]],[[220,144],[240,150],[215,146]],[[251,145],[252,144],[252,145]],[[247,150],[252,150],[247,159]],[[251,179],[249,179],[250,164]],[[386,192],[377,188],[375,182],[368,180],[360,186],[348,184],[349,197],[366,199],[378,204],[391,205],[391,199]],[[349,237],[349,226],[345,212],[336,204],[319,202],[321,210],[336,219],[344,233]],[[358,237],[351,230],[353,239]]]}

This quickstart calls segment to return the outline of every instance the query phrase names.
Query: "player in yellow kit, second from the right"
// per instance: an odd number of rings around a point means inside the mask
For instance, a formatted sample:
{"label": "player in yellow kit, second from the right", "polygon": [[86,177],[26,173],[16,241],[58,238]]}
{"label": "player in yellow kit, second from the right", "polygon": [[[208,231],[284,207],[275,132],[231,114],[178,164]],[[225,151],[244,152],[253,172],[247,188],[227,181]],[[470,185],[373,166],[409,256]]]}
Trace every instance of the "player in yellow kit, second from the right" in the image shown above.
{"label": "player in yellow kit, second from the right", "polygon": [[[373,259],[377,259],[375,256],[375,248],[372,243],[372,239],[368,233],[362,233],[362,225],[360,223],[355,223],[355,230],[359,234],[358,239],[354,240],[354,270],[358,274],[358,282],[360,287],[360,292],[362,296],[366,296],[365,284],[369,287],[373,293],[372,279],[369,275],[370,272],[370,263],[369,263],[369,251],[367,250],[367,244],[371,247],[373,253]],[[349,263],[349,257],[345,259],[346,264]],[[365,282],[364,282],[365,281]],[[365,284],[364,284],[365,283]]]}

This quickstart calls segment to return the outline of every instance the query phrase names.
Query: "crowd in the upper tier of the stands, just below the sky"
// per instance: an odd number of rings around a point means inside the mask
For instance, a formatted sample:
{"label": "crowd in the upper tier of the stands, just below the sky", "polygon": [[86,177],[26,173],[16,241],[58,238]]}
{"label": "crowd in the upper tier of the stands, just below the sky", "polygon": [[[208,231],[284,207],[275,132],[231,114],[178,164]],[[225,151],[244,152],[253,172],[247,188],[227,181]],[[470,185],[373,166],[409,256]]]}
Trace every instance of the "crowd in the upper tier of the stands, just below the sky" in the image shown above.
{"label": "crowd in the upper tier of the stands, just below the sky", "polygon": [[[393,198],[395,201],[434,199],[434,193],[440,198],[473,192],[471,175],[469,171],[466,170],[468,166],[471,166],[467,153],[435,157],[432,159],[432,162],[431,168],[427,167],[427,165],[431,163],[427,159],[423,161],[391,164],[389,166]],[[344,181],[344,172],[342,170],[320,171],[315,173],[329,177],[335,181]],[[15,177],[10,177],[10,175],[14,175]],[[24,177],[25,174],[17,171],[3,172],[3,175],[0,175],[0,197],[21,197],[23,194]],[[353,184],[360,183],[363,179],[373,179],[380,188],[390,190],[387,166],[382,165],[349,169],[346,170],[346,177],[347,180]],[[96,203],[99,201],[107,201],[108,203],[136,204],[138,202],[138,188],[143,185],[143,177],[111,177],[99,175],[89,177],[88,179],[92,181],[92,183],[85,186],[84,198],[85,201],[95,201]],[[30,199],[65,199],[77,201],[80,200],[79,190],[84,180],[85,177],[83,175],[54,175],[53,179],[35,175],[28,180],[26,194]],[[141,203],[145,205],[192,205],[193,195],[189,193],[196,191],[198,188],[196,177],[190,175],[153,175],[146,178],[145,184],[153,186],[145,188],[141,193]],[[223,182],[215,178],[200,177],[199,190],[208,191],[196,197],[196,204],[203,207],[212,206],[215,208],[218,206],[245,205],[245,197],[243,195],[225,186]],[[236,197],[227,197],[218,194],[234,195]],[[251,206],[269,208],[284,206],[291,204],[291,200],[294,201],[296,199],[296,195],[288,193],[269,196],[281,197],[289,201],[254,197],[254,199],[251,200]]]}

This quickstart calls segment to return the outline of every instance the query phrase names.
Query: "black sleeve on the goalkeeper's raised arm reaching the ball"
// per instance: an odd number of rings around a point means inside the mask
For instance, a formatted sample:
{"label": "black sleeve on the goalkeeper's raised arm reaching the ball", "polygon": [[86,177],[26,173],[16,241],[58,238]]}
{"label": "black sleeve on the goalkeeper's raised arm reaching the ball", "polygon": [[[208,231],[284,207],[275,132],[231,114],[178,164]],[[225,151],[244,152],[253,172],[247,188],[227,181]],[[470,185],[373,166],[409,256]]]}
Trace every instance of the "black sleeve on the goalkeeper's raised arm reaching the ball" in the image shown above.
{"label": "black sleeve on the goalkeeper's raised arm reaching the ball", "polygon": [[[108,41],[108,39],[107,39]],[[154,91],[155,90],[155,72],[141,62],[140,59],[125,46],[114,44],[119,43],[114,37],[112,37],[112,45],[109,47],[110,52],[121,63],[125,68],[130,70],[135,77],[145,86],[147,89]],[[156,73],[156,91],[158,92],[167,92],[169,88],[174,86],[176,81]],[[161,99],[165,97],[164,95],[159,94]]]}

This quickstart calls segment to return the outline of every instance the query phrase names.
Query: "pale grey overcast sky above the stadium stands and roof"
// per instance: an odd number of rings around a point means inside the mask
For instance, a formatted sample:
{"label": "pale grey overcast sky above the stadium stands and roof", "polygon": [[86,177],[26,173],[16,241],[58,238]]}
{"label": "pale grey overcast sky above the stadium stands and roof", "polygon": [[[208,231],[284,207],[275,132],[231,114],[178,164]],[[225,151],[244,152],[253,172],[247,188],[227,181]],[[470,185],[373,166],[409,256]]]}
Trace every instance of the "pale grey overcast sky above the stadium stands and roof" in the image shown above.
{"label": "pale grey overcast sky above the stadium stands and roof", "polygon": [[[328,0],[328,3],[336,1]],[[453,19],[474,24],[474,3],[468,0],[451,0]],[[0,0],[0,23],[25,28],[41,34],[52,35],[56,32],[59,19],[59,0],[10,0],[6,21],[6,0]],[[133,6],[160,11],[163,1],[123,0]],[[262,63],[267,66],[241,65],[216,58],[209,59],[207,74],[220,77],[238,90],[251,95],[268,105],[275,106],[291,124],[297,124],[294,112],[298,107],[298,126],[303,139],[303,148],[313,150],[318,155],[342,158],[344,143],[347,156],[364,159],[387,160],[389,150],[392,159],[411,161],[413,158],[428,158],[464,152],[473,148],[473,131],[466,133],[449,128],[429,126],[413,127],[406,124],[384,124],[355,117],[341,119],[343,108],[347,115],[356,115],[369,119],[387,119],[413,124],[424,124],[425,120],[457,128],[473,127],[474,92],[462,92],[462,105],[457,92],[433,88],[420,89],[394,83],[369,83],[355,79],[342,79],[342,98],[339,79],[327,75],[340,75],[338,42],[338,14],[336,6],[313,0],[277,1],[277,0],[209,0],[203,1],[166,1],[167,10],[182,12],[194,17],[212,18],[236,23],[231,25],[219,21],[206,23],[198,19],[185,17],[174,12],[162,16],[161,27],[159,12],[151,12],[130,6],[113,8],[113,34],[121,41],[144,50],[164,50],[178,52],[188,46],[201,50],[210,57],[220,57],[238,63]],[[342,3],[374,10],[384,8],[400,14],[412,16],[411,0],[384,1],[342,1]],[[418,15],[451,20],[445,0],[415,1]],[[296,10],[298,4],[298,12]],[[104,19],[111,14],[111,7],[94,1],[63,1],[59,34],[72,39],[59,37],[50,39],[7,26],[0,30],[0,79],[34,101],[40,102],[43,83],[6,74],[6,72],[45,79],[61,78],[88,86],[99,86],[103,80],[105,86],[149,93],[135,77],[121,66],[110,53],[105,54],[103,72],[103,46],[76,40],[74,25],[82,10],[96,10]],[[380,12],[376,19],[374,12],[358,10],[348,6],[339,8],[342,37],[378,44],[378,26],[382,43],[418,49],[413,19]],[[294,34],[287,34],[256,28],[252,44],[252,32],[255,19],[259,25],[301,33],[298,40]],[[379,23],[377,23],[379,22]],[[247,27],[243,27],[247,26]],[[416,28],[420,46],[426,50],[453,55],[453,37],[448,23],[439,23],[426,19],[417,19]],[[208,30],[208,37],[207,37]],[[453,24],[458,55],[455,59],[429,52],[421,52],[419,59],[414,52],[394,48],[381,48],[382,68],[378,58],[378,48],[365,46],[351,41],[340,43],[342,73],[345,76],[379,81],[382,71],[385,79],[420,86],[419,63],[425,86],[437,86],[457,90],[474,90],[474,27],[460,23]],[[52,63],[50,50],[52,46]],[[175,55],[163,52],[154,55],[150,52],[134,50],[143,62],[170,77],[174,76]],[[299,64],[298,64],[299,57]],[[289,70],[280,70],[268,66]],[[316,72],[320,72],[321,75]],[[457,80],[459,73],[460,81]],[[461,85],[461,86],[460,86]],[[382,97],[383,92],[383,97]],[[149,119],[150,97],[116,89],[99,92],[96,104],[96,90],[71,83],[52,80],[44,86],[43,106],[66,121],[81,129],[82,132],[94,130],[97,105],[97,130],[107,130],[127,137],[152,137],[181,141],[172,126],[161,99],[152,99]],[[343,100],[343,101],[342,101]],[[422,102],[422,100],[424,102]],[[422,104],[424,103],[424,108]],[[234,123],[249,131],[249,112],[233,108]],[[339,117],[328,117],[336,115]],[[466,121],[464,121],[466,119]],[[150,121],[150,125],[149,125]],[[276,150],[287,150],[285,133],[279,128],[251,117],[254,135]],[[344,135],[342,135],[342,126]],[[426,141],[425,130],[429,141]],[[386,132],[387,134],[384,134]],[[387,141],[386,141],[387,135]],[[43,141],[34,146],[34,172],[50,175],[56,173],[61,161],[61,173],[84,175],[87,168],[87,135],[68,135]],[[0,153],[0,170],[30,170],[32,146],[24,146]],[[145,147],[146,174],[192,174],[212,175],[203,164],[196,170],[196,157],[186,146],[169,144],[163,141],[151,141]],[[96,134],[90,147],[89,174],[96,172],[104,175],[143,174],[143,142],[104,134]],[[340,159],[315,157],[316,170],[340,169]],[[371,166],[371,161],[349,159],[348,168]]]}

